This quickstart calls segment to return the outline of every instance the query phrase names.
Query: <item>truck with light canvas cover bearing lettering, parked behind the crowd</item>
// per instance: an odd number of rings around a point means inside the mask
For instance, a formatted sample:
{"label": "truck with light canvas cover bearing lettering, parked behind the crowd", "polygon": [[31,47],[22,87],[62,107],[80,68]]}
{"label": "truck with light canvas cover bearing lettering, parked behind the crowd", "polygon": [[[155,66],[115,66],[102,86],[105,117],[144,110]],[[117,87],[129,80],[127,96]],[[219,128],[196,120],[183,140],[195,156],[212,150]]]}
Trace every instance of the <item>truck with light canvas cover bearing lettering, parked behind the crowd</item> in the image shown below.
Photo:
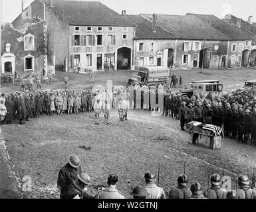
{"label": "truck with light canvas cover bearing lettering, parked behind the crowd", "polygon": [[169,79],[170,68],[164,66],[140,67],[137,76],[128,79],[127,86],[159,85]]}

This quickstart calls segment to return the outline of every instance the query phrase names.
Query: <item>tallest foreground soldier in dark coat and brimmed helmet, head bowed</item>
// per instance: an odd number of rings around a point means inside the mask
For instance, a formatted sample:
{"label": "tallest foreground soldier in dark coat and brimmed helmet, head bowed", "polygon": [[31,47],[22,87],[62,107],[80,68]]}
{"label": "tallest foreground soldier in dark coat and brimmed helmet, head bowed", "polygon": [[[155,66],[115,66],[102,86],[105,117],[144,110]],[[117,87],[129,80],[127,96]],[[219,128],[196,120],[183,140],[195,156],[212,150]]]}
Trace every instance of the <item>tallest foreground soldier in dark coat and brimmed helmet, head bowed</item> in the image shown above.
{"label": "tallest foreground soldier in dark coat and brimmed helmet, head bowed", "polygon": [[82,174],[80,160],[78,156],[71,155],[68,157],[68,163],[59,171],[57,185],[61,189],[61,199],[64,198],[66,189],[72,181],[78,179],[78,174]]}

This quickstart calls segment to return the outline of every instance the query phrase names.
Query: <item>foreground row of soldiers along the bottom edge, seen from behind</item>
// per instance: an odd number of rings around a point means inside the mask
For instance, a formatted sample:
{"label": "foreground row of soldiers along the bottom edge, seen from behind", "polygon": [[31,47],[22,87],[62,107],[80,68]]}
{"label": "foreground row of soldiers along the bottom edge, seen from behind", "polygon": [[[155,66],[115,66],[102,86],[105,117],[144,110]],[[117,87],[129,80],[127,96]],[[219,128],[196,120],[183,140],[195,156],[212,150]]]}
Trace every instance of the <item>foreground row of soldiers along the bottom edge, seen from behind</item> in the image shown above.
{"label": "foreground row of soldiers along the bottom edge, seen from behind", "polygon": [[[130,195],[134,199],[166,199],[166,193],[162,187],[156,185],[156,174],[152,171],[144,175],[145,184],[135,187]],[[219,174],[211,175],[208,188],[203,192],[199,182],[188,186],[188,176],[182,174],[178,177],[178,186],[171,189],[170,199],[256,199],[256,179],[250,182],[245,174],[237,178],[236,189],[227,191],[222,186]],[[61,199],[124,199],[124,195],[116,189],[118,176],[109,175],[106,187],[98,188],[96,195],[88,192],[91,184],[90,176],[82,173],[78,156],[71,155],[68,162],[59,171],[57,185],[61,190]],[[251,184],[251,185],[250,185]]]}

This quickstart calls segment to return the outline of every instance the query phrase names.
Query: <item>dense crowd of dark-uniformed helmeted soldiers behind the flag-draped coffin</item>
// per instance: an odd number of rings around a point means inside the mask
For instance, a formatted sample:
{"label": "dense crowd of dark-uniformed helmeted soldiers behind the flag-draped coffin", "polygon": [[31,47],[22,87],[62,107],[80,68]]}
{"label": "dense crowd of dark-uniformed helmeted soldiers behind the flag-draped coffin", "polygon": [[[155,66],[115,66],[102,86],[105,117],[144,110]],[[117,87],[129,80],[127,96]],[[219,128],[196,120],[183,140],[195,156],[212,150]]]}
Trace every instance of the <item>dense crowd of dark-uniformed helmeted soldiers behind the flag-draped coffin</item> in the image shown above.
{"label": "dense crowd of dark-uniformed helmeted soldiers behind the flag-draped coffin", "polygon": [[185,125],[198,121],[223,128],[226,137],[256,143],[256,93],[200,99],[174,94],[169,87],[164,96],[164,113],[180,119],[183,131]]}

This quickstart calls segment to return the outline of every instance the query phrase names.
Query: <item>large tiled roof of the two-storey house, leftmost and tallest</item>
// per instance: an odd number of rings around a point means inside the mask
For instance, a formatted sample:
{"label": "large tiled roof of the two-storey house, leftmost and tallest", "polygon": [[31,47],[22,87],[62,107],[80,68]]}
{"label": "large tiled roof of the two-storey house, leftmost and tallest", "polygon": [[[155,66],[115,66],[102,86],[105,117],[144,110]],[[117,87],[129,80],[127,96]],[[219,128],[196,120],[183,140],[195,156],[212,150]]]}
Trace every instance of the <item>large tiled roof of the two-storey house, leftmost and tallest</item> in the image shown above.
{"label": "large tiled roof of the two-storey house, leftmost and tallest", "polygon": [[[39,0],[49,5],[49,0]],[[98,1],[53,0],[53,11],[70,25],[134,26],[124,17]]]}

